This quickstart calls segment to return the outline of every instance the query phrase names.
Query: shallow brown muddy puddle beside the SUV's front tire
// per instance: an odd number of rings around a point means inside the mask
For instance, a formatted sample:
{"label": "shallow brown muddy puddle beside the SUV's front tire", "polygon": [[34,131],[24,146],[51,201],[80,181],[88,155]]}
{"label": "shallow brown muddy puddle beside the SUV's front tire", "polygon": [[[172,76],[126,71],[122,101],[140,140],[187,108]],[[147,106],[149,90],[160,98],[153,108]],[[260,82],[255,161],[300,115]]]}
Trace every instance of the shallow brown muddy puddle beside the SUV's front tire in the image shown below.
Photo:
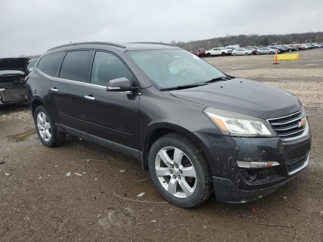
{"label": "shallow brown muddy puddle beside the SUV's front tire", "polygon": [[125,191],[127,193],[127,197],[136,198],[136,196],[140,193],[145,193],[140,200],[154,200],[159,201],[159,199],[163,198],[158,193],[157,189],[153,186],[151,179],[143,179],[139,181],[133,181],[130,187]]}

